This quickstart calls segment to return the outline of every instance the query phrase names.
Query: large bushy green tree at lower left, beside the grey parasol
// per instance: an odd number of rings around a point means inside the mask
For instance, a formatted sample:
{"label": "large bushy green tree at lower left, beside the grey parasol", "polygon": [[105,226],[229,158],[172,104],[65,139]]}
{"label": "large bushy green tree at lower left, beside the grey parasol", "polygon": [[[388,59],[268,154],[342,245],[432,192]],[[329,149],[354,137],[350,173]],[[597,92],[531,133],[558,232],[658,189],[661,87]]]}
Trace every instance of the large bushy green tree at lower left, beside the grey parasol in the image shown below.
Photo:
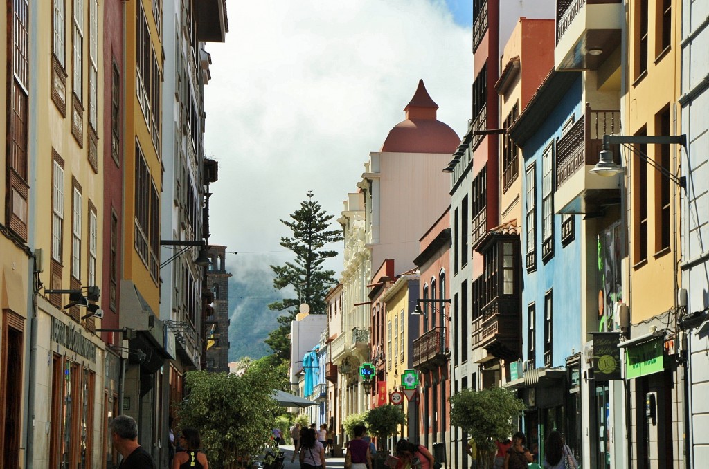
{"label": "large bushy green tree at lower left, beside the grey parasol", "polygon": [[248,463],[271,438],[282,408],[271,397],[278,378],[273,371],[248,368],[243,375],[190,371],[187,397],[178,402],[179,427],[198,429],[209,467]]}

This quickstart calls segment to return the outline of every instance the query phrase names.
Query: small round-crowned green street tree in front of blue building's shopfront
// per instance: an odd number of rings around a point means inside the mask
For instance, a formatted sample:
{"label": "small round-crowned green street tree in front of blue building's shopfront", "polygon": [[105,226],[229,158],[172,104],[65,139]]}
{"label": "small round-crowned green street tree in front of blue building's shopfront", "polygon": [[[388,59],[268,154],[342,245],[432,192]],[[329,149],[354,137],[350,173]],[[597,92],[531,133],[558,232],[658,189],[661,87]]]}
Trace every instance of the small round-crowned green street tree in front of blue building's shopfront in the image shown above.
{"label": "small round-crowned green street tree in front of blue building's shopfront", "polygon": [[525,403],[504,388],[464,389],[449,400],[450,423],[475,439],[482,467],[491,467],[495,441],[504,441],[517,430]]}

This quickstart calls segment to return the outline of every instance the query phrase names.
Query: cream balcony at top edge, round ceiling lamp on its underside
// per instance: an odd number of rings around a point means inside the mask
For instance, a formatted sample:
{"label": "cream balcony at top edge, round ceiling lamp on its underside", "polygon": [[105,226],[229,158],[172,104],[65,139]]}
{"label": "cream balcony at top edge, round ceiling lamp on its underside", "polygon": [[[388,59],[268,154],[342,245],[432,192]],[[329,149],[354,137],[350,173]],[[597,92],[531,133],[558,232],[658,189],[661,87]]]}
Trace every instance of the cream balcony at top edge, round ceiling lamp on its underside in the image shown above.
{"label": "cream balcony at top edge, round ceiling lamp on its underside", "polygon": [[557,0],[554,69],[596,70],[601,67],[620,46],[623,21],[622,0]]}

